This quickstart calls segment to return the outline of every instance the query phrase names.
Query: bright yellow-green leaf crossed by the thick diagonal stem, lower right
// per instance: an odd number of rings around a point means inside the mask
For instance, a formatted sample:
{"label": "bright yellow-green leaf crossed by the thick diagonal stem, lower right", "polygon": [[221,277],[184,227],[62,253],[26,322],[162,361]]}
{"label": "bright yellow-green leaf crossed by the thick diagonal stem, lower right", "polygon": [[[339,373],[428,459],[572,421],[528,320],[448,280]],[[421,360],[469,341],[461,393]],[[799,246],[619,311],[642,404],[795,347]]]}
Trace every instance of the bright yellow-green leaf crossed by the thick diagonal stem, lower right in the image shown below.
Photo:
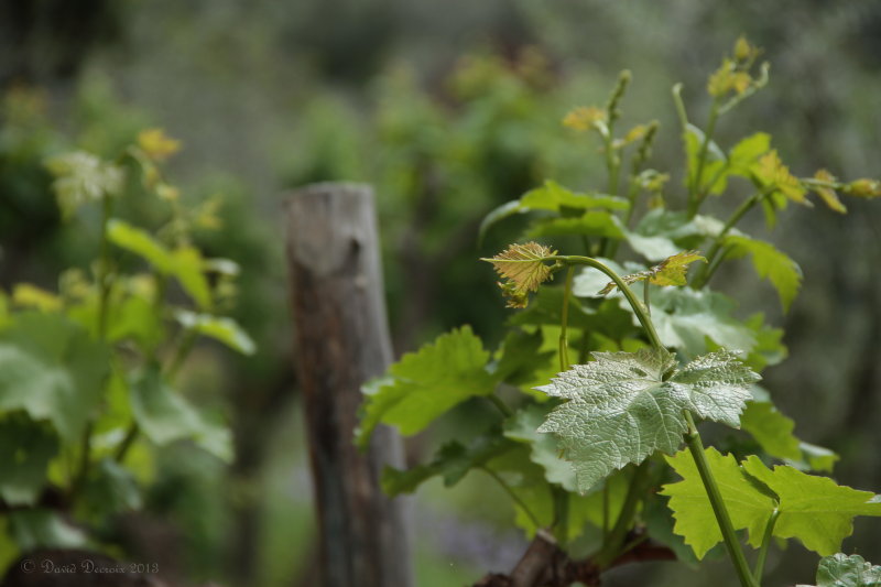
{"label": "bright yellow-green leaf crossed by the thick diagonal stem, lower right", "polygon": [[[731,517],[731,524],[735,530],[748,530],[750,544],[757,545],[776,506],[774,497],[757,488],[732,455],[722,455],[713,447],[704,450],[704,454]],[[676,520],[673,531],[683,536],[695,556],[701,559],[722,541],[707,489],[689,450],[681,450],[666,457],[666,460],[683,478],[682,481],[665,485],[660,492],[670,498],[668,506]]]}

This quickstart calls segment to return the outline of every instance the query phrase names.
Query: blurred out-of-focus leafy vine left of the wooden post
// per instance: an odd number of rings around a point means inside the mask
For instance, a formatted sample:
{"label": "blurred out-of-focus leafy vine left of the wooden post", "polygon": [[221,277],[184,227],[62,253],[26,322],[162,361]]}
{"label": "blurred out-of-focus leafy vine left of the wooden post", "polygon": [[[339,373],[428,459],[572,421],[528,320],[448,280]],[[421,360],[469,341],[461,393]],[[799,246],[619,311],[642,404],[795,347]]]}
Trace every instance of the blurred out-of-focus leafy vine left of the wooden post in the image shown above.
{"label": "blurred out-of-focus leafy vine left of the wooden post", "polygon": [[[185,205],[163,174],[178,148],[150,129],[113,160],[46,161],[64,218],[86,241],[80,210],[97,209],[100,224],[90,267],[64,271],[57,291],[0,291],[0,525],[19,550],[91,543],[110,515],[142,506],[162,447],[232,457],[227,425],[175,384],[199,337],[255,350],[224,315],[238,265],[194,244],[195,231],[218,226],[216,204]],[[116,216],[138,198],[163,205],[165,222]]]}

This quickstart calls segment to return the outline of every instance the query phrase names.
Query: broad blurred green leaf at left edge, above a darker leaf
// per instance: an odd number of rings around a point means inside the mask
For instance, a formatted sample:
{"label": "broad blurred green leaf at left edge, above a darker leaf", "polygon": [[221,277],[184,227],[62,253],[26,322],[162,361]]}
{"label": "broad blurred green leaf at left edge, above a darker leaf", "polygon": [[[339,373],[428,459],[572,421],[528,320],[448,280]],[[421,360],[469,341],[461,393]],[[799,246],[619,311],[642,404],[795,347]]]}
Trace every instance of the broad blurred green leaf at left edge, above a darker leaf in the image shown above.
{"label": "broad blurred green leaf at left edge, above a darker leaf", "polygon": [[98,406],[108,348],[57,314],[21,314],[0,334],[0,413],[25,411],[77,442]]}

